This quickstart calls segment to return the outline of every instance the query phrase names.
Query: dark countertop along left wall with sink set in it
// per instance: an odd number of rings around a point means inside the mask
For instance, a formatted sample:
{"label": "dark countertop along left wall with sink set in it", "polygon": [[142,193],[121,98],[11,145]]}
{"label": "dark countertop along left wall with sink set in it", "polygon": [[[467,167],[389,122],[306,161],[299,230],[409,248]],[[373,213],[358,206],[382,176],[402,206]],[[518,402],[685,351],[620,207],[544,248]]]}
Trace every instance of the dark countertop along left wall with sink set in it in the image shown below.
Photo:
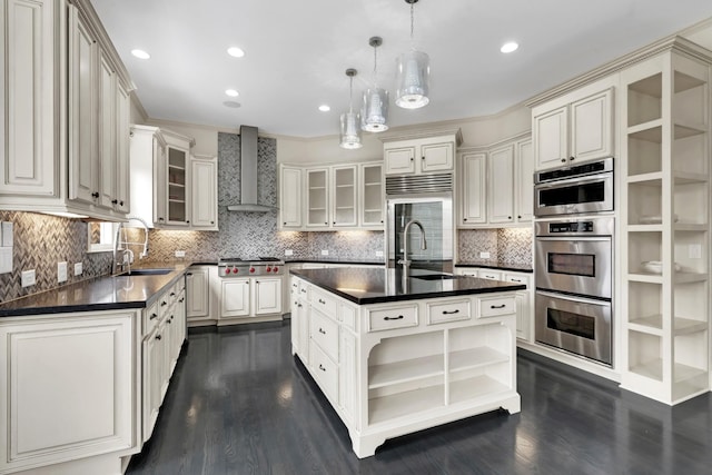
{"label": "dark countertop along left wall with sink set in it", "polygon": [[0,304],[0,318],[144,308],[149,306],[161,290],[181,278],[189,266],[189,263],[156,264],[144,268],[171,268],[172,271],[162,276],[107,275],[28,295]]}

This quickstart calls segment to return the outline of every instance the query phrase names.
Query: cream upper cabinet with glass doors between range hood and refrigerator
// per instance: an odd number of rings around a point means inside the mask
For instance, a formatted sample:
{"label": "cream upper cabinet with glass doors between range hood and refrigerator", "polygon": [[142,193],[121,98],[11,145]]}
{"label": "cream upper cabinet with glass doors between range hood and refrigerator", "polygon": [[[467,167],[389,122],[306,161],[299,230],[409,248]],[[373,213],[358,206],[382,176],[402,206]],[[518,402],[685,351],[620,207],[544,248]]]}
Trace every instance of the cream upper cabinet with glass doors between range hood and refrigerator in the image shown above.
{"label": "cream upper cabinet with glass doors between range hood and refrigerator", "polygon": [[383,229],[382,162],[283,165],[279,180],[280,229]]}

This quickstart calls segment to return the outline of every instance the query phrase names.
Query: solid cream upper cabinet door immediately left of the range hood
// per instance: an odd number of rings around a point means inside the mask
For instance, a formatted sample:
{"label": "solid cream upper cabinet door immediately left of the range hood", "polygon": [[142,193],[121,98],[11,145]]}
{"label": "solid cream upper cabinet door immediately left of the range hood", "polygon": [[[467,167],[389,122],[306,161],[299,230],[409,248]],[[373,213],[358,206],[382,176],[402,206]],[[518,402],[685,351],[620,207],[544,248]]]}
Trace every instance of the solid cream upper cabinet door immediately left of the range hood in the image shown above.
{"label": "solid cream upper cabinet door immediately left of the range hood", "polygon": [[190,226],[216,228],[218,221],[218,167],[212,160],[190,161]]}

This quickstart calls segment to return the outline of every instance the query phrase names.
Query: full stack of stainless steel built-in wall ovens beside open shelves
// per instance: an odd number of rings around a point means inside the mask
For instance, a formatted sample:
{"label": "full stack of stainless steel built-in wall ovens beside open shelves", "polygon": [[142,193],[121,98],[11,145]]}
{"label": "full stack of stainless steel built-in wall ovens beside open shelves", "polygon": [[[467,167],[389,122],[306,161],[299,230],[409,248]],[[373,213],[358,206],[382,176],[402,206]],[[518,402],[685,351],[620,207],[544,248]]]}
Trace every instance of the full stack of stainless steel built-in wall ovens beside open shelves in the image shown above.
{"label": "full stack of stainless steel built-in wall ovens beside open shelves", "polygon": [[613,362],[613,159],[535,176],[535,339]]}

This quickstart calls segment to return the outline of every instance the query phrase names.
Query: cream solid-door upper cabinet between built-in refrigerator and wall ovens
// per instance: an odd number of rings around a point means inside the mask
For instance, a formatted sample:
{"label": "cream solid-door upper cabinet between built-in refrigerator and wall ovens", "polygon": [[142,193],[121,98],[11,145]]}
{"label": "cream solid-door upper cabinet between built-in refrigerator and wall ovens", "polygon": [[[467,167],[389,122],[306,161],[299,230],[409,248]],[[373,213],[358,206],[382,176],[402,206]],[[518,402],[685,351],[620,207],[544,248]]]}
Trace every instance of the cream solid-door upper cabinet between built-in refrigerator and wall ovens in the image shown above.
{"label": "cream solid-door upper cabinet between built-in refrigerator and wall ovens", "polygon": [[528,224],[533,215],[534,157],[528,133],[459,155],[459,228]]}

